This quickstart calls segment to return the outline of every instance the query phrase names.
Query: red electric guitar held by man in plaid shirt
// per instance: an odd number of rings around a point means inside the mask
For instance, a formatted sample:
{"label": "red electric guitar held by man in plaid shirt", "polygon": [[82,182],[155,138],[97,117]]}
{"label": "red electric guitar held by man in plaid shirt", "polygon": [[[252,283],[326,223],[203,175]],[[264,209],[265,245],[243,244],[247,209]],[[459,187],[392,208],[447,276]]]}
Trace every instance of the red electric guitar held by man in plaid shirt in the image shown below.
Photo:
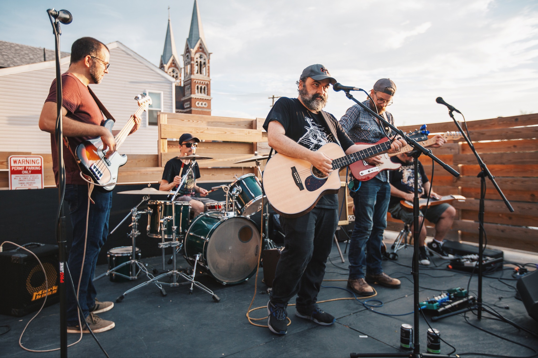
{"label": "red electric guitar held by man in plaid shirt", "polygon": [[[429,145],[435,144],[434,138],[428,139],[428,135],[425,133],[422,133],[420,130],[414,131],[413,133],[408,134],[408,136],[410,136],[419,144],[421,144],[422,147],[428,147]],[[456,141],[460,138],[463,138],[460,132],[454,132],[454,131],[444,133],[443,137],[447,141]],[[365,143],[355,143],[355,144],[365,144]],[[380,164],[372,165],[372,164],[366,163],[366,160],[359,160],[358,162],[351,164],[349,166],[349,170],[351,171],[351,174],[353,174],[353,177],[355,177],[355,179],[357,180],[360,180],[360,181],[370,180],[384,170],[399,169],[401,164],[393,163],[390,157],[394,157],[400,153],[405,153],[411,150],[413,150],[413,147],[407,144],[405,147],[401,148],[396,153],[391,153],[391,154],[385,153],[381,155],[382,163]]]}

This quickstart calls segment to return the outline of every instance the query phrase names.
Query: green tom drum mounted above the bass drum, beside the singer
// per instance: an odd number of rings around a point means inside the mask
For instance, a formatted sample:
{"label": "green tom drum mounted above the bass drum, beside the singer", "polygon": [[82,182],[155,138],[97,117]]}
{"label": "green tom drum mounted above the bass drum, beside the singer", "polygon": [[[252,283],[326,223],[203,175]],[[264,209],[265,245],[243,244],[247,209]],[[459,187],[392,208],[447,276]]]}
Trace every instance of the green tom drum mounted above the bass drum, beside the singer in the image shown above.
{"label": "green tom drum mounted above the bass drum, beside the singer", "polygon": [[236,193],[236,210],[239,215],[250,216],[256,214],[267,202],[261,193],[261,184],[254,174],[245,174],[230,184],[229,193]]}

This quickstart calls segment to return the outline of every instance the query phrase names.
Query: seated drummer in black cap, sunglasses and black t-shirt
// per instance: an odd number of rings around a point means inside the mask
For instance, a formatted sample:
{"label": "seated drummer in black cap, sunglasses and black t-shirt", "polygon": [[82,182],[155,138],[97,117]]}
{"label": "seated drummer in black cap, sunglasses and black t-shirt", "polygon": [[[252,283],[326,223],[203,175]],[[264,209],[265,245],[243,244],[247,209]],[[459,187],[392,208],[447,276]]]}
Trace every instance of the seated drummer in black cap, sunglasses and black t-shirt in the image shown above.
{"label": "seated drummer in black cap, sunglasses and black t-shirt", "polygon": [[[179,150],[181,151],[179,157],[185,157],[192,154],[195,154],[196,147],[200,140],[196,137],[193,137],[190,133],[182,134],[179,137]],[[183,187],[180,189],[180,192],[176,196],[176,201],[187,201],[190,202],[190,207],[192,207],[194,216],[203,213],[205,204],[208,202],[213,202],[214,200],[207,198],[197,198],[196,193],[200,193],[200,196],[207,196],[208,191],[204,188],[201,188],[196,185],[196,179],[200,178],[200,169],[198,163],[195,163],[192,166],[192,162],[186,159],[172,158],[166,162],[165,170],[162,173],[162,180],[159,186],[159,190],[162,191],[175,191],[178,185],[181,182],[181,179],[187,171],[192,167],[192,174],[189,174],[189,178],[183,184]]]}

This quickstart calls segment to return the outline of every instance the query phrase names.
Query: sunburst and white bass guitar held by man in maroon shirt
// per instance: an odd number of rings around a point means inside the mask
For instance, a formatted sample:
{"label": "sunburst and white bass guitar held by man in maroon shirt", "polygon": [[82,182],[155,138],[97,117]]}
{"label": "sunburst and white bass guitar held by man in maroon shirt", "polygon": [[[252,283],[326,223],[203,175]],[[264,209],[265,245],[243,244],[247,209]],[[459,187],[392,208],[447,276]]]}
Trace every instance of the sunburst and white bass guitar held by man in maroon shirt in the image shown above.
{"label": "sunburst and white bass guitar held by man in maroon shirt", "polygon": [[[146,93],[139,94],[134,99],[138,102],[138,109],[134,114],[140,115],[142,112],[147,111],[147,107],[151,105],[151,97],[147,96]],[[118,150],[134,127],[134,114],[114,137],[116,139],[116,151],[110,157],[105,157],[108,149],[103,151],[101,137],[84,141],[76,147],[76,161],[82,173],[86,174],[106,191],[114,189],[118,180],[119,167],[127,163],[127,156],[119,154]],[[105,120],[103,127],[112,131],[114,120]]]}

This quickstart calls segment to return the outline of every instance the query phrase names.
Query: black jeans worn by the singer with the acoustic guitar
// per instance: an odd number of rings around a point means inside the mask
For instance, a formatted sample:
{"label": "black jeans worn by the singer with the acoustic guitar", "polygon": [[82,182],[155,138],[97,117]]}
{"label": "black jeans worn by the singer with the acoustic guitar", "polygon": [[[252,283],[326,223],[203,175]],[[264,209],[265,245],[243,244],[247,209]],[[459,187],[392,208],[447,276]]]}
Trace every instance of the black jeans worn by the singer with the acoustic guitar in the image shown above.
{"label": "black jeans worn by the singer with the acoustic guitar", "polygon": [[298,295],[298,309],[307,312],[315,307],[338,224],[337,214],[337,209],[314,207],[300,217],[280,216],[286,236],[273,280],[271,302],[287,304]]}

